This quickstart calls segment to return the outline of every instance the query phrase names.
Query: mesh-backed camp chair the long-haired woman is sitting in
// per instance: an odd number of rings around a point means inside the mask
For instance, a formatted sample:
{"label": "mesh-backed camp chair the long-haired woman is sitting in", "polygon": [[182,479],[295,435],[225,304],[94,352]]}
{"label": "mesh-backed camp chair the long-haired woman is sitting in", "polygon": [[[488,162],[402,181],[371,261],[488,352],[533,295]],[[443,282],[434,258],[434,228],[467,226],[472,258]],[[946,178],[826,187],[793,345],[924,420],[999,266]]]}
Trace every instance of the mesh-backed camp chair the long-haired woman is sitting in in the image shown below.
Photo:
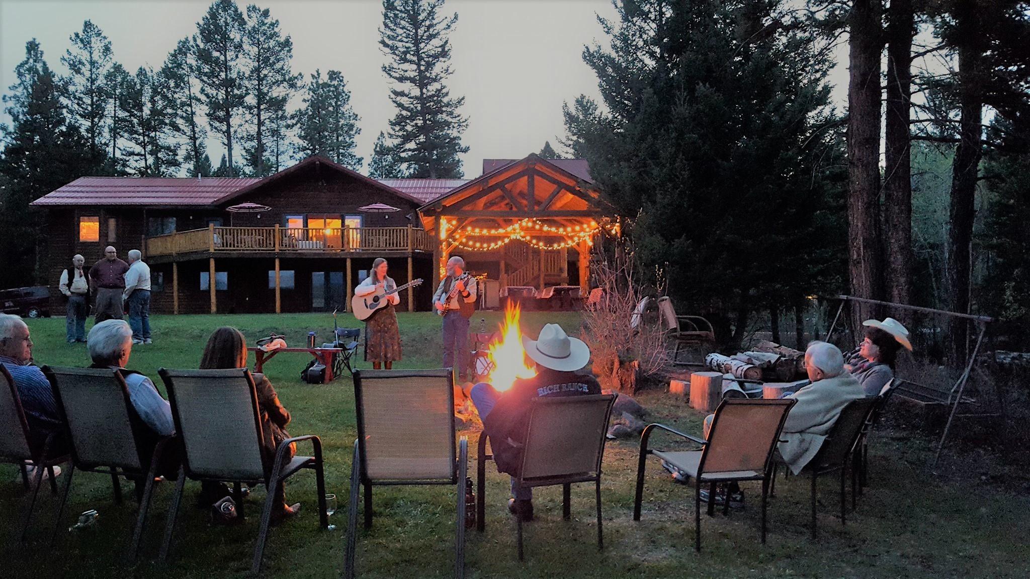
{"label": "mesh-backed camp chair the long-haired woman is sitting in", "polygon": [[[237,486],[237,512],[242,516],[239,483],[264,484],[268,490],[265,511],[261,517],[258,545],[254,547],[251,573],[261,572],[262,555],[272,518],[275,488],[302,469],[315,471],[318,488],[318,524],[329,526],[325,514],[325,476],[322,471],[321,440],[313,435],[296,436],[279,443],[275,458],[262,452],[261,410],[258,391],[250,371],[229,370],[167,370],[158,371],[168,389],[175,431],[182,441],[182,466],[175,482],[175,496],[168,512],[161,560],[168,558],[175,519],[186,478],[191,480],[233,482]],[[294,456],[287,459],[290,444],[310,440],[314,456]]]}

